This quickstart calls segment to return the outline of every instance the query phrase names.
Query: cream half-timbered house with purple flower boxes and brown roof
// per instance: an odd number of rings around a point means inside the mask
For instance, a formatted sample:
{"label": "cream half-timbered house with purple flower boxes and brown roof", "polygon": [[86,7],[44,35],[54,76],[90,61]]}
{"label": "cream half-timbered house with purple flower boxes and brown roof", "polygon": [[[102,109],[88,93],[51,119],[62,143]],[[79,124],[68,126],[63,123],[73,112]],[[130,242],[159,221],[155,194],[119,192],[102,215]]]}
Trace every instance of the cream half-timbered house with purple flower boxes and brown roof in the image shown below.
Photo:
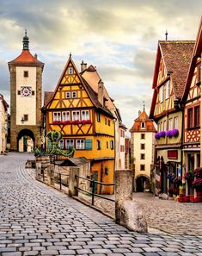
{"label": "cream half-timbered house with purple flower boxes and brown roof", "polygon": [[154,71],[150,118],[157,124],[156,194],[167,197],[168,173],[181,177],[183,111],[181,97],[194,41],[159,41]]}

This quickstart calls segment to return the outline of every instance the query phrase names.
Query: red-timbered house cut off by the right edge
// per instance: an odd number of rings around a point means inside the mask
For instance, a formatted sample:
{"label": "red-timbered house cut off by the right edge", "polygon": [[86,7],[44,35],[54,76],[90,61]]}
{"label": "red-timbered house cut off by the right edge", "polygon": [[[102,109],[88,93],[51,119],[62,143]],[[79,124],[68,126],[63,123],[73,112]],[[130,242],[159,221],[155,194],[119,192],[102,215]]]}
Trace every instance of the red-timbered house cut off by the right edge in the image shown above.
{"label": "red-timbered house cut off by the right edge", "polygon": [[193,171],[200,166],[201,52],[202,19],[181,100],[184,105],[184,171]]}

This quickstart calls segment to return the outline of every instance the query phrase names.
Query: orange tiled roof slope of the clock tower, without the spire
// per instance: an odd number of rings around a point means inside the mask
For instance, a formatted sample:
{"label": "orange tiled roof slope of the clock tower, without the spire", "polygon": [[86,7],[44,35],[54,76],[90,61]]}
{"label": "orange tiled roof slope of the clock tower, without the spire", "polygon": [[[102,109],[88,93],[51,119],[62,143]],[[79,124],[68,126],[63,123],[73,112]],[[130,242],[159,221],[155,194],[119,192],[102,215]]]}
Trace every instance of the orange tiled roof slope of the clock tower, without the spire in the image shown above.
{"label": "orange tiled roof slope of the clock tower, without the spire", "polygon": [[27,65],[36,65],[36,66],[44,66],[44,63],[40,60],[36,59],[28,50],[22,50],[21,54],[9,61],[10,64],[27,64]]}

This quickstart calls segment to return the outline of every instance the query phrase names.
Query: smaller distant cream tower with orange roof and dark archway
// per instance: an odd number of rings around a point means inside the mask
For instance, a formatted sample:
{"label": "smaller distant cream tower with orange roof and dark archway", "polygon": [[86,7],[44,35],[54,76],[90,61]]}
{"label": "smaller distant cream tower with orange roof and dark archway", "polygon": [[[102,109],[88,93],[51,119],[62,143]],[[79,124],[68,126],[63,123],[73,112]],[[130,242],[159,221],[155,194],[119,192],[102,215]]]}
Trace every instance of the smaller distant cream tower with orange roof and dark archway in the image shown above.
{"label": "smaller distant cream tower with orange roof and dark archway", "polygon": [[146,112],[139,113],[131,132],[131,159],[134,165],[134,190],[150,190],[150,169],[154,159],[154,134],[156,128]]}

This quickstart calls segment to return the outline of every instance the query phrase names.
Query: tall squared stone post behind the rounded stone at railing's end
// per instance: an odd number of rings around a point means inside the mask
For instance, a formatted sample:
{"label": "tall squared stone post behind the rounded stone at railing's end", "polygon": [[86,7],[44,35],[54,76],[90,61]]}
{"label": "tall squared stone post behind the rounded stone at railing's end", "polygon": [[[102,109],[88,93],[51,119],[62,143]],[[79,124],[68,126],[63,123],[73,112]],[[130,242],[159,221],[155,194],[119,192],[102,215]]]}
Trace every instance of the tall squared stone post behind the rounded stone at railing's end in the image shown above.
{"label": "tall squared stone post behind the rounded stone at railing's end", "polygon": [[121,223],[121,208],[125,200],[132,200],[132,170],[115,171],[115,219]]}

